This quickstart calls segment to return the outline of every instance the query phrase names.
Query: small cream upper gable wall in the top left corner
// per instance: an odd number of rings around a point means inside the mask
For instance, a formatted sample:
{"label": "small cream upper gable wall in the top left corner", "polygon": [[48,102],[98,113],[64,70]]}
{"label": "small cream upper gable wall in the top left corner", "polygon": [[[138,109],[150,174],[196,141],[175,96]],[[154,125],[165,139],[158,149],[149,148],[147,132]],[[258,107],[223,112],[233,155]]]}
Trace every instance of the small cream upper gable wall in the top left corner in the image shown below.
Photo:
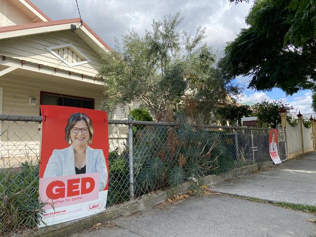
{"label": "small cream upper gable wall in the top left corner", "polygon": [[9,0],[0,0],[0,27],[32,23],[30,17],[23,14]]}

